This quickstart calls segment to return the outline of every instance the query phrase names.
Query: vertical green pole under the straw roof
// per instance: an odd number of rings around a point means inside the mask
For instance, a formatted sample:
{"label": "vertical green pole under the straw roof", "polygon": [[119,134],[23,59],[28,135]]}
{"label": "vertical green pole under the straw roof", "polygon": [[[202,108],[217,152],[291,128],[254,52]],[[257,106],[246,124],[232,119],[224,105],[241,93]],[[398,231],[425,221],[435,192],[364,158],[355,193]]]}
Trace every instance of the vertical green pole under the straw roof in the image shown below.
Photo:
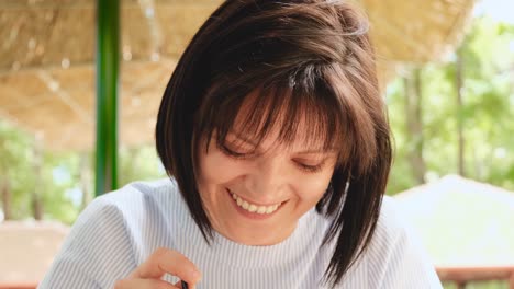
{"label": "vertical green pole under the straw roof", "polygon": [[97,0],[96,196],[118,187],[120,1]]}

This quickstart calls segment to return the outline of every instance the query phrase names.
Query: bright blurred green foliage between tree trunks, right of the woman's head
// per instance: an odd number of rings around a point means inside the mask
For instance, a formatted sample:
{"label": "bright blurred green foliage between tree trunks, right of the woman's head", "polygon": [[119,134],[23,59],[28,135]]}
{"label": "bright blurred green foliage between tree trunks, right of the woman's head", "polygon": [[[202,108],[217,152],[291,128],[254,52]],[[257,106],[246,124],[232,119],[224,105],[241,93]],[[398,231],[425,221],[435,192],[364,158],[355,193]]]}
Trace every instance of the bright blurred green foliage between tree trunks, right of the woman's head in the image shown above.
{"label": "bright blurred green foliage between tree trunks, right of the woman's head", "polygon": [[[457,125],[465,136],[466,176],[514,190],[514,27],[477,19],[459,48],[463,63],[463,106],[457,106],[456,59],[423,69],[423,157],[428,180],[457,173]],[[388,194],[416,185],[409,165],[412,138],[405,135],[401,79],[387,100],[395,135],[395,162]]]}

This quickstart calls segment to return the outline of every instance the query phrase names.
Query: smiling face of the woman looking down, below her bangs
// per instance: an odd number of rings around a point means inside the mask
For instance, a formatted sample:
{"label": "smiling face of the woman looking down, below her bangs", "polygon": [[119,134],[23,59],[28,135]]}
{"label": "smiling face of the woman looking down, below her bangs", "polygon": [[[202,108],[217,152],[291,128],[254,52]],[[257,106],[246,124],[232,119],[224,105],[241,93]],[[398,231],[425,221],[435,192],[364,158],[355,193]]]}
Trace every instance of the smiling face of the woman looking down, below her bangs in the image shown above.
{"label": "smiling face of the woman looking down, below her bangs", "polygon": [[246,245],[277,244],[325,193],[337,153],[321,150],[323,140],[306,147],[304,123],[292,143],[278,143],[278,131],[271,130],[256,147],[253,136],[237,127],[245,109],[250,108],[242,107],[223,147],[215,136],[206,151],[205,140],[200,146],[199,192],[220,234]]}

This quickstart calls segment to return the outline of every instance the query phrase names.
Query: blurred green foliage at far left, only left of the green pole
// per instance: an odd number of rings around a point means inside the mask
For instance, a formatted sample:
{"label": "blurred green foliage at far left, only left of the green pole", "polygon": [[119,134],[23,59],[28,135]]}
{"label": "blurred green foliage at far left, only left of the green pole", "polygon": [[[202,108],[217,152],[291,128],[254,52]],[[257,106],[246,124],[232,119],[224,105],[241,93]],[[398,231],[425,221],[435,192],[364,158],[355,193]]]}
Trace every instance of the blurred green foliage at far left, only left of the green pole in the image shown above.
{"label": "blurred green foliage at far left, only left of the green pole", "polygon": [[[44,152],[37,173],[34,146],[35,141],[30,134],[0,122],[0,184],[3,186],[9,182],[12,218],[31,218],[34,215],[33,196],[40,194],[44,204],[44,218],[71,223],[77,218],[78,208],[66,193],[78,183],[77,175],[72,175],[77,155]],[[69,177],[56,182],[54,172],[58,167],[69,173]]]}

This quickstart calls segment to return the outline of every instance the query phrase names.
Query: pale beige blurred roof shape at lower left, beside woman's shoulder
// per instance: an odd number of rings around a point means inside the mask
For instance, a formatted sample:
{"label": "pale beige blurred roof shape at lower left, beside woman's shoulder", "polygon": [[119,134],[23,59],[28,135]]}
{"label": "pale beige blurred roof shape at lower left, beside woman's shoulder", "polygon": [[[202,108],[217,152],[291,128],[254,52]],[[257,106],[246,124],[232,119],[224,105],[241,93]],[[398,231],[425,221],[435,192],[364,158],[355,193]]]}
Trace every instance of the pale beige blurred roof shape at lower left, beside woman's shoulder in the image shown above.
{"label": "pale beige blurred roof shape at lower left, beside woman's shoulder", "polygon": [[57,222],[0,222],[0,287],[41,281],[68,231]]}

